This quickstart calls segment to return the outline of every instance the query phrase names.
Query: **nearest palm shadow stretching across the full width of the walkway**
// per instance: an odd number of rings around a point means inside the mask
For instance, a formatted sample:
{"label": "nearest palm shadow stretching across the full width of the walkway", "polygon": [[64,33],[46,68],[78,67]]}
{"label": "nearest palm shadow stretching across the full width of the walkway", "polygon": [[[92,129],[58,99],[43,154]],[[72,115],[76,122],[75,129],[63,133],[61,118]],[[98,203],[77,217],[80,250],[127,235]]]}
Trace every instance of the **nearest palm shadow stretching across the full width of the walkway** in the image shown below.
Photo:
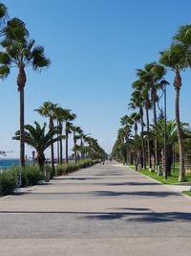
{"label": "nearest palm shadow stretching across the full width of the walkway", "polygon": [[[118,208],[125,209],[125,208]],[[151,211],[147,208],[126,208],[129,212],[62,212],[62,211],[0,211],[0,216],[3,214],[6,215],[73,215],[74,218],[84,219],[87,221],[126,221],[126,222],[149,222],[149,223],[156,223],[156,222],[173,222],[173,221],[180,221],[180,222],[188,222],[191,221],[191,213],[185,212],[162,212],[156,213]],[[141,211],[141,212],[140,212]],[[14,218],[12,216],[12,218]]]}

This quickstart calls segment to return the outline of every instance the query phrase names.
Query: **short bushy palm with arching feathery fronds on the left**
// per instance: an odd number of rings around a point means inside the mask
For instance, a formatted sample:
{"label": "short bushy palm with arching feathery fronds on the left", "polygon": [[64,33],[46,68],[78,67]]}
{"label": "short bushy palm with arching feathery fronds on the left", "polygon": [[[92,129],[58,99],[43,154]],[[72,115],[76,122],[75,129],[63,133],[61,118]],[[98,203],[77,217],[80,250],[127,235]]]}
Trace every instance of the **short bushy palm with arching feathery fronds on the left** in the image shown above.
{"label": "short bushy palm with arching feathery fronds on the left", "polygon": [[[44,151],[47,150],[54,142],[56,142],[59,137],[54,138],[53,136],[57,134],[57,128],[49,129],[47,133],[45,133],[46,124],[44,123],[41,128],[37,122],[34,122],[35,127],[31,125],[25,126],[25,142],[32,146],[36,150],[36,160],[43,171],[45,164],[45,154]],[[15,132],[15,136],[12,138],[14,140],[20,140],[20,130]]]}

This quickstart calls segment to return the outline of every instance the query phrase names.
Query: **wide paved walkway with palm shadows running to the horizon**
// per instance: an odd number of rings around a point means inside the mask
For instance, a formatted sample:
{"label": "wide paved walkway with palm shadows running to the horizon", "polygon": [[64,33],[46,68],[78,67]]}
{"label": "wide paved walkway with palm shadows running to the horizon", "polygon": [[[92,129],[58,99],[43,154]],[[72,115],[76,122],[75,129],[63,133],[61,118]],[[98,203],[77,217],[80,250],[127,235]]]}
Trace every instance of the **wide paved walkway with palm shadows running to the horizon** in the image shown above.
{"label": "wide paved walkway with palm shadows running to the horizon", "polygon": [[114,162],[0,199],[0,255],[190,256],[191,199]]}

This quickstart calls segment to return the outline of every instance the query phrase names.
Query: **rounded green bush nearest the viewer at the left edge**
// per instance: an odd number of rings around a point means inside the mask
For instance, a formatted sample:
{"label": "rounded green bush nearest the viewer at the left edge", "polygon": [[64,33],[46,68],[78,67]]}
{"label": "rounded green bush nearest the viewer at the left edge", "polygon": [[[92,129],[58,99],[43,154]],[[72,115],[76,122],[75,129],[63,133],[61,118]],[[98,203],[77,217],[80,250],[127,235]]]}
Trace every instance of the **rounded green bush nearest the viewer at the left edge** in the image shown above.
{"label": "rounded green bush nearest the viewer at the left edge", "polygon": [[0,175],[1,194],[6,196],[13,193],[16,187],[16,173],[6,170]]}

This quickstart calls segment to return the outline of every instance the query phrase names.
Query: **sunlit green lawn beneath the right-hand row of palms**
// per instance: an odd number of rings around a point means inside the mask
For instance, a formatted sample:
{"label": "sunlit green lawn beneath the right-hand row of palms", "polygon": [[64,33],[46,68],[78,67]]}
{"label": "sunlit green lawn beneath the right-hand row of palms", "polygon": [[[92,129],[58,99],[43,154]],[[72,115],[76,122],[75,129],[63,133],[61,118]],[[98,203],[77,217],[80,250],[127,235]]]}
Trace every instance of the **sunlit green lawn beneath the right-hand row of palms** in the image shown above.
{"label": "sunlit green lawn beneath the right-hand row of palms", "polygon": [[[129,167],[132,169],[135,169],[134,166],[129,166]],[[150,176],[163,184],[180,184],[181,183],[179,182],[179,168],[175,168],[175,172],[172,170],[171,176],[168,176],[167,179],[164,179],[163,175],[157,175],[157,173],[151,173],[145,169],[142,169],[141,171],[139,171],[139,173],[142,175]],[[191,182],[191,174],[185,175],[185,182]]]}

